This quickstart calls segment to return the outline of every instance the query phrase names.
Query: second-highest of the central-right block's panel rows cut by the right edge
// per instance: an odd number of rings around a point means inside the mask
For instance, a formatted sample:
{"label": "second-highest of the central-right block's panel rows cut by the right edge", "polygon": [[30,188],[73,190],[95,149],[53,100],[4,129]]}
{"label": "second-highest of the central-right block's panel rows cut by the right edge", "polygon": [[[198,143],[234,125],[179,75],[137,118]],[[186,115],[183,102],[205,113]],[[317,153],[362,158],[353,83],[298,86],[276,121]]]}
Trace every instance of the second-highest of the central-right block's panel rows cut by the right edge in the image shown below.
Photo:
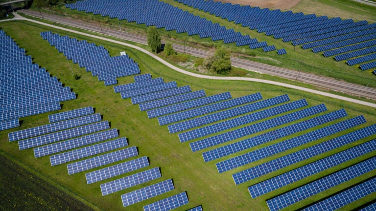
{"label": "second-highest of the central-right block's panel rows cut by the right edge", "polygon": [[355,159],[374,150],[376,150],[376,140],[346,149],[298,169],[294,169],[271,179],[265,180],[261,183],[248,187],[248,191],[250,192],[252,198],[256,198],[270,191],[279,189],[283,186],[304,179],[315,173],[343,164],[349,160]]}

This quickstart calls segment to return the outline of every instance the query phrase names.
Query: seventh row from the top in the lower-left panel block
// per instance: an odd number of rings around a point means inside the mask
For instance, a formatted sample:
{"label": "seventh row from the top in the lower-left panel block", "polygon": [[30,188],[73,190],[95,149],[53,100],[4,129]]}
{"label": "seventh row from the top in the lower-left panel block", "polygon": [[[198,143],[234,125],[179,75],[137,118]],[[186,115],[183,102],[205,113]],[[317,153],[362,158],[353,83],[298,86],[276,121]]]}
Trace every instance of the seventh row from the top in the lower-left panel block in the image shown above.
{"label": "seventh row from the top in the lower-left panel block", "polygon": [[86,173],[86,182],[88,184],[92,184],[94,182],[118,176],[120,174],[131,172],[147,166],[149,166],[149,161],[147,160],[147,157],[144,156],[115,166],[110,166],[104,169],[99,169],[96,171]]}

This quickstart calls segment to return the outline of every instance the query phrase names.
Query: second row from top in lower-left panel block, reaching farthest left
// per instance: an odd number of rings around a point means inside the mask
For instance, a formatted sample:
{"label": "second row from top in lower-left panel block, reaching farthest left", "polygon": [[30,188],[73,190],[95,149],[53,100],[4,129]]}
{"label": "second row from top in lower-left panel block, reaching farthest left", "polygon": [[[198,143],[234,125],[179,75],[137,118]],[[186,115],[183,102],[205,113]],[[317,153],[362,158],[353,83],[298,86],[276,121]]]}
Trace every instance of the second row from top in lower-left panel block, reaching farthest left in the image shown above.
{"label": "second row from top in lower-left panel block, reaching farthest left", "polygon": [[30,138],[33,136],[43,135],[46,133],[56,132],[59,130],[68,129],[71,127],[78,127],[82,125],[87,125],[94,122],[102,121],[100,114],[92,114],[88,116],[78,117],[76,119],[70,119],[63,122],[52,123],[49,125],[27,128],[24,130],[19,130],[15,132],[8,133],[9,141],[18,141],[25,138]]}

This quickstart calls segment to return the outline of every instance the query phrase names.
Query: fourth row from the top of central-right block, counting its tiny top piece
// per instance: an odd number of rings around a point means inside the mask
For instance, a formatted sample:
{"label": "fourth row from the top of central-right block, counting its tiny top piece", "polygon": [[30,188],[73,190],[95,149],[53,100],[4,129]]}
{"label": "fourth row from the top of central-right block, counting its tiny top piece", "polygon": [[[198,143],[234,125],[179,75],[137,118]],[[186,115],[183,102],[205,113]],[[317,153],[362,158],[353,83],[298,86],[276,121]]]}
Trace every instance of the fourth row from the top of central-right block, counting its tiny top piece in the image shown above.
{"label": "fourth row from the top of central-right block, counting its tiny top piece", "polygon": [[177,88],[167,89],[164,91],[158,91],[158,92],[154,92],[150,94],[136,96],[136,97],[131,98],[131,101],[132,101],[132,104],[135,105],[135,104],[144,103],[147,101],[153,101],[153,100],[158,100],[158,99],[165,98],[165,97],[171,97],[174,95],[187,93],[190,91],[191,91],[190,86],[186,85],[186,86],[181,86]]}

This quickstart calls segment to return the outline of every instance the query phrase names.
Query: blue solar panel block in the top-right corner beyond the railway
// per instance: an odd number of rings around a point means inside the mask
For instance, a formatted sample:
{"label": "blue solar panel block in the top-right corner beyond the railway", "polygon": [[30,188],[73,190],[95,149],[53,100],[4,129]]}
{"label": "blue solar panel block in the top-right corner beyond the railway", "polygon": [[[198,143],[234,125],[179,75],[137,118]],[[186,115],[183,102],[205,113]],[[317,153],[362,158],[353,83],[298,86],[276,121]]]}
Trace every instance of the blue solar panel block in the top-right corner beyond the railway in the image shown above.
{"label": "blue solar panel block in the top-right corner beyond the railway", "polygon": [[[241,23],[242,26],[250,26],[250,29],[265,32],[267,36],[273,35],[275,39],[282,38],[283,42],[292,41],[294,45],[303,44],[302,47],[304,49],[313,47],[312,51],[315,53],[325,51],[324,56],[333,56],[369,46],[375,47],[375,44],[370,44],[370,42],[367,43],[367,46],[360,47],[365,44],[363,43],[364,41],[375,39],[376,24],[368,24],[367,21],[353,22],[351,19],[328,19],[326,16],[316,17],[314,14],[303,15],[302,13],[294,14],[291,11],[271,11],[258,7],[232,5],[212,0],[178,1],[193,8],[214,14],[215,16],[220,16],[223,19],[227,18],[229,21]],[[355,43],[357,45],[352,46]],[[344,46],[346,48],[338,49]],[[252,49],[252,46],[250,47]],[[352,47],[356,47],[356,49],[352,49]],[[346,51],[344,51],[345,49]],[[329,53],[328,50],[333,51]],[[334,52],[335,54],[332,54]],[[366,63],[376,59],[371,55],[367,55],[374,52],[376,52],[374,48],[362,49],[362,51],[351,52],[344,56],[339,55],[335,60],[342,61],[345,60],[342,59],[345,57],[350,59],[362,56],[362,58],[355,59],[356,63],[352,60],[347,61],[347,63],[349,65]],[[359,67],[362,70],[367,70],[376,67],[376,64],[366,63]]]}

